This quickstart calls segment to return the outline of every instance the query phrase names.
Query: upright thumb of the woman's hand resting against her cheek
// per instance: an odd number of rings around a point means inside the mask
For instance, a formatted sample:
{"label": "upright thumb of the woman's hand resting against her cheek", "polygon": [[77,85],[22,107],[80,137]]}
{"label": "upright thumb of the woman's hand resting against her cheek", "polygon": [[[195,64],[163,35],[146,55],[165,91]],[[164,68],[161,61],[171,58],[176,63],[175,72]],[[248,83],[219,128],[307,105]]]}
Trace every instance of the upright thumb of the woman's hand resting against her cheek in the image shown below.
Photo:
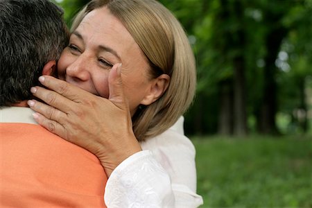
{"label": "upright thumb of the woman's hand resting against her cheek", "polygon": [[128,110],[128,103],[123,93],[123,80],[121,78],[121,64],[114,64],[108,77],[110,88],[109,100],[117,107]]}

